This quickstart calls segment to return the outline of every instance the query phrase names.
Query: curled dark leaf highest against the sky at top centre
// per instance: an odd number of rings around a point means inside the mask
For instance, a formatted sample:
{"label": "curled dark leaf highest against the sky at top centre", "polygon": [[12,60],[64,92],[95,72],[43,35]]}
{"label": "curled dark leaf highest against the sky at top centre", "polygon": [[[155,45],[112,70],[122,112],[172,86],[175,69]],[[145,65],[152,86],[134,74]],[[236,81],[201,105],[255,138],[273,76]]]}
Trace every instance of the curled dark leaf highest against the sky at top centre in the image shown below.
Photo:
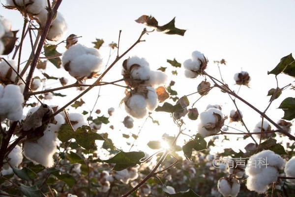
{"label": "curled dark leaf highest against the sky at top centre", "polygon": [[164,32],[166,34],[177,34],[183,36],[186,31],[175,27],[175,18],[173,18],[169,23],[163,26],[158,26],[158,21],[154,17],[148,15],[142,15],[135,21],[137,23],[145,24],[149,27],[154,27],[158,32]]}

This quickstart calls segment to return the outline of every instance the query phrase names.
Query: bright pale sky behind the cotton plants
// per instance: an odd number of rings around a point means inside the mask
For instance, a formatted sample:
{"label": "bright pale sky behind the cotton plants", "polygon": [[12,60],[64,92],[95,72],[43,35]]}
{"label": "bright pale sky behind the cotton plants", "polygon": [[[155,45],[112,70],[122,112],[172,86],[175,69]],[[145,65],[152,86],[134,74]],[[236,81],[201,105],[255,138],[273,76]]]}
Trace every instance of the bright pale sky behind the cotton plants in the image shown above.
{"label": "bright pale sky behind the cotton plants", "polygon": [[[0,1],[5,4],[5,0]],[[119,30],[122,30],[120,53],[124,52],[137,39],[145,27],[134,21],[139,16],[151,14],[160,25],[166,24],[176,17],[176,26],[187,30],[183,37],[151,33],[144,37],[146,42],[138,44],[127,54],[126,58],[133,55],[144,57],[152,69],[157,69],[160,66],[169,67],[167,59],[176,58],[178,62],[182,63],[191,57],[191,52],[198,50],[204,53],[209,60],[207,72],[216,77],[219,76],[219,73],[213,61],[224,58],[227,61],[227,66],[222,66],[225,81],[231,88],[237,90],[238,87],[234,85],[235,81],[233,80],[234,74],[241,69],[248,71],[252,77],[250,88],[242,87],[239,95],[261,110],[264,110],[269,100],[269,97],[266,97],[267,91],[276,86],[274,75],[267,75],[267,70],[275,67],[283,56],[295,53],[294,10],[295,0],[128,0],[124,3],[122,1],[63,0],[59,9],[68,24],[68,32],[65,37],[71,33],[83,36],[79,42],[87,46],[93,46],[91,42],[95,38],[105,40],[105,47],[100,49],[104,63],[106,63],[109,53],[107,44],[112,41],[118,42]],[[14,30],[21,30],[23,19],[17,11],[0,7],[0,15],[12,21]],[[29,42],[26,43],[23,61],[26,60],[25,55],[30,53]],[[63,52],[64,46],[59,47],[59,51]],[[112,58],[114,59],[115,55]],[[114,81],[121,78],[121,62],[106,75],[104,81]],[[61,70],[50,65],[47,72],[54,76],[71,78]],[[178,91],[179,96],[195,92],[198,84],[204,79],[203,77],[186,79],[183,68],[178,70],[177,77],[171,77],[171,70],[169,69],[167,74],[169,74],[170,80],[177,82],[174,89]],[[279,75],[278,79],[280,87],[294,81],[294,78],[283,74]],[[72,78],[71,81],[75,80]],[[88,83],[90,82],[91,80]],[[54,84],[53,82],[49,83],[46,88],[58,86],[59,83]],[[83,97],[89,109],[93,105],[97,91],[98,88],[95,88]],[[79,94],[75,89],[64,93],[71,94],[72,97]],[[267,115],[275,121],[283,117],[283,111],[276,108],[286,97],[294,97],[294,93],[291,90],[284,91],[281,97],[273,102]],[[106,86],[102,88],[101,94],[102,97],[99,99],[97,108],[106,113],[109,107],[118,107],[119,101],[124,96],[124,89]],[[193,103],[198,97],[196,95],[189,99]],[[52,102],[63,105],[69,100],[70,97],[65,97],[54,99]],[[222,95],[217,89],[202,98],[196,107],[201,113],[209,103],[224,105],[223,112],[225,114],[234,109],[228,96]],[[253,129],[260,121],[260,116],[241,102],[237,101],[237,104],[244,114],[248,128]],[[80,110],[78,109],[78,111]],[[75,110],[71,108],[70,111]],[[143,124],[144,120],[135,120],[134,129],[127,130],[120,123],[125,115],[124,107],[121,106],[115,112],[114,117],[110,119],[113,120],[115,130],[104,126],[102,131],[110,131],[110,136],[115,143],[122,146],[124,150],[128,150],[129,147],[124,145],[125,142],[122,139],[125,138],[122,138],[121,134],[137,133],[138,127]],[[159,139],[164,132],[172,135],[177,133],[177,128],[173,125],[168,114],[154,112],[152,116],[160,122],[160,126],[156,126],[148,120],[136,143],[140,145],[139,149],[141,150],[150,151],[146,148],[147,142],[151,139]],[[185,122],[187,123],[185,126],[187,133],[196,134],[197,121],[185,120]],[[239,124],[233,126],[243,129]],[[188,132],[188,130],[191,131]],[[233,136],[233,138],[236,137]],[[133,138],[130,137],[129,140],[132,142]],[[250,142],[250,139],[248,141]],[[179,144],[181,142],[183,139],[179,140]],[[235,144],[235,148],[243,148],[245,145]],[[223,147],[232,147],[232,144],[223,144]]]}

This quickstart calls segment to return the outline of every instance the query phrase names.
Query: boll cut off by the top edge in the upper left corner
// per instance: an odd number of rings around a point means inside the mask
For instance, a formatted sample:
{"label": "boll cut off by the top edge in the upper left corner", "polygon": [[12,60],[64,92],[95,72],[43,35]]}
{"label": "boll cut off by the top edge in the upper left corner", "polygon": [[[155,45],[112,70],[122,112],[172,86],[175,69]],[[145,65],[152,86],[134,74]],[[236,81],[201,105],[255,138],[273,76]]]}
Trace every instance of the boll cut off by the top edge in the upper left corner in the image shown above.
{"label": "boll cut off by the top edge in the upper left corner", "polygon": [[26,5],[26,11],[30,14],[39,14],[42,10],[45,10],[47,5],[45,0],[6,0],[7,5],[24,7]]}

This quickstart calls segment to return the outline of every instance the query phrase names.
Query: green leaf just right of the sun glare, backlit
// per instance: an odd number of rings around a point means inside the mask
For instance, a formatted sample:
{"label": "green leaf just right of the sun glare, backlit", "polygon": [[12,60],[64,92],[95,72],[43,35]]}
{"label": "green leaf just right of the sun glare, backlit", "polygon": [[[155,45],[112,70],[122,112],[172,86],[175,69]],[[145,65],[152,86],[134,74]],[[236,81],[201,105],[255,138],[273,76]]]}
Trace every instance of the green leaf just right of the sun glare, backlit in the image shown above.
{"label": "green leaf just right of the sun glare, backlit", "polygon": [[188,159],[192,157],[193,149],[196,151],[207,149],[207,142],[200,134],[197,134],[194,140],[190,140],[184,146],[182,146],[183,154]]}

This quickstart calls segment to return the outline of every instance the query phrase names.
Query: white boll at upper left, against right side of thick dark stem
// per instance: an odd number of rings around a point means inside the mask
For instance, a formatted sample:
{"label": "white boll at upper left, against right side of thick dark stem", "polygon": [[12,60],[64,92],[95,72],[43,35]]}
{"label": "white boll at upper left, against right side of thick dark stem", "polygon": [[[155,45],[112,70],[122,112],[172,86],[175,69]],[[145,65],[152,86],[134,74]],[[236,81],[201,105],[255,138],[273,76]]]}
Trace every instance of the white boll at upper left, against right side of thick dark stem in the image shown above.
{"label": "white boll at upper left, against right side of thick dark stem", "polygon": [[66,31],[67,31],[67,24],[65,22],[65,19],[63,18],[61,13],[58,12],[56,18],[51,24],[51,27],[49,29],[46,39],[52,40],[52,41],[58,41],[64,35]]}

